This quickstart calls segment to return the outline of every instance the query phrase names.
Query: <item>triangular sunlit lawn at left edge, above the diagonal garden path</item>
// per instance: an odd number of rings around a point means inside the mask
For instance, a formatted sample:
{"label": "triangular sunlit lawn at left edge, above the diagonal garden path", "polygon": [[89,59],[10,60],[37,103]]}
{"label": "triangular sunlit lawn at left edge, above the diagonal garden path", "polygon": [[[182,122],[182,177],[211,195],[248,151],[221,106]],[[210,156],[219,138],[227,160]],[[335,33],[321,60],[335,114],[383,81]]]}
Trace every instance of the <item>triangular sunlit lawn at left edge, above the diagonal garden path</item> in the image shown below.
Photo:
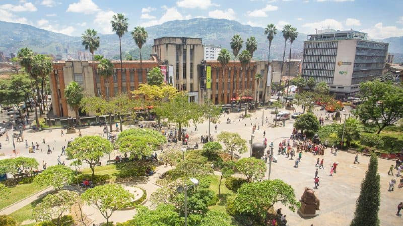
{"label": "triangular sunlit lawn at left edge, above the diagonal garden path", "polygon": [[38,186],[33,183],[17,184],[14,187],[10,187],[11,193],[8,199],[2,199],[0,202],[0,209],[9,206],[21,199],[24,199],[31,194],[44,189],[46,186]]}

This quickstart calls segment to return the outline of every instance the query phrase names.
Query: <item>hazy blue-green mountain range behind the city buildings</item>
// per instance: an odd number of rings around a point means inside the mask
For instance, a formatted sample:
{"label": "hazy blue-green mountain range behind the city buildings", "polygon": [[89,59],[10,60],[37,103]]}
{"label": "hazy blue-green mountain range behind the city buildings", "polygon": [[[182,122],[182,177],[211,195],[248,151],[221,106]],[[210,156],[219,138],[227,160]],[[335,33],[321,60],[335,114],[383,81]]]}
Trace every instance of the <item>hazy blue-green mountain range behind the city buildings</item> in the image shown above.
{"label": "hazy blue-green mountain range behind the city buildings", "polygon": [[[264,35],[264,29],[242,25],[237,21],[212,18],[195,18],[190,20],[175,20],[146,28],[148,39],[143,47],[143,56],[151,54],[153,40],[155,38],[171,37],[193,37],[201,38],[203,44],[216,45],[230,50],[230,40],[234,34],[239,34],[244,41],[249,36],[255,36],[257,50],[254,59],[266,59],[268,51],[268,41]],[[133,58],[138,58],[138,48],[132,40],[129,31],[122,37],[123,56],[130,54]],[[83,29],[84,33],[84,29]],[[101,43],[95,54],[104,55],[107,58],[116,58],[119,54],[119,39],[116,35],[99,35]],[[303,51],[303,42],[307,35],[300,33],[294,41],[292,52],[296,53],[296,58],[300,58]],[[391,37],[381,42],[390,43],[389,52],[396,56],[403,56],[403,37]],[[290,44],[287,43],[286,53],[289,52]],[[67,36],[59,33],[39,29],[30,25],[16,24],[0,21],[0,52],[16,53],[19,49],[28,47],[34,52],[57,55],[60,54],[66,59],[68,56],[76,56],[77,51],[84,51],[81,44],[81,37]],[[245,48],[245,44],[244,44]],[[272,42],[271,59],[281,59],[284,50],[284,38],[279,31]],[[230,52],[232,52],[230,50]],[[288,55],[288,54],[287,54]],[[299,56],[298,56],[299,55]],[[396,60],[395,60],[396,61]],[[401,62],[401,61],[399,61]]]}

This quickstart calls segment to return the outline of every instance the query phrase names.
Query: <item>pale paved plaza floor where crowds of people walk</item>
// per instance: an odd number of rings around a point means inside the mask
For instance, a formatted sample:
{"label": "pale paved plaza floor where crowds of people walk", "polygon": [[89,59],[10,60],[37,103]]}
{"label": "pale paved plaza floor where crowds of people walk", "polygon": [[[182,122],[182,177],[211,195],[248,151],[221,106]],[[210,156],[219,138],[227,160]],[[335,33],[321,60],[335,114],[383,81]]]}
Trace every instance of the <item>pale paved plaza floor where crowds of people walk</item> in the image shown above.
{"label": "pale paved plaza floor where crowds of people walk", "polygon": [[[266,117],[268,118],[268,122],[273,122],[274,115],[271,115],[270,111],[271,109],[258,110],[256,113],[252,113],[251,118],[245,120],[239,118],[241,112],[222,115],[220,122],[217,123],[217,132],[214,129],[215,124],[211,124],[211,134],[216,138],[221,131],[235,132],[249,141],[252,135],[252,125],[256,124],[258,129],[254,133],[254,142],[263,142],[263,131],[265,131],[267,142],[270,144],[270,142],[273,141],[275,144],[274,153],[278,162],[272,164],[271,179],[279,178],[292,185],[298,200],[303,194],[305,187],[313,188],[316,158],[324,158],[324,169],[320,169],[318,174],[320,177],[320,185],[318,189],[315,190],[316,196],[320,199],[320,210],[317,211],[317,216],[304,219],[296,212],[292,212],[288,208],[281,206],[281,204],[276,204],[275,208],[283,207],[282,212],[287,215],[289,225],[348,225],[354,215],[356,200],[360,193],[362,179],[368,168],[369,157],[359,155],[360,164],[353,164],[355,155],[344,151],[339,151],[337,156],[332,155],[330,150],[326,150],[324,156],[313,156],[310,153],[304,152],[298,168],[294,168],[293,160],[289,160],[282,155],[277,155],[277,146],[281,140],[289,138],[293,129],[294,120],[286,121],[285,127],[281,125],[277,128],[270,128],[265,123]],[[325,116],[324,111],[315,110],[314,112],[317,116]],[[231,124],[226,124],[227,118],[230,118],[232,121]],[[325,122],[325,124],[328,123],[331,122]],[[124,127],[124,129],[126,128],[127,127]],[[102,129],[103,127],[92,126],[82,129],[81,132],[83,136],[104,136]],[[189,146],[194,145],[196,142],[200,144],[200,136],[208,134],[208,122],[197,125],[197,129],[197,131],[194,131],[193,125],[187,128],[187,132],[190,135]],[[40,168],[42,167],[42,161],[47,162],[48,166],[57,164],[57,156],[61,153],[61,147],[66,145],[67,141],[78,136],[78,134],[69,134],[61,137],[60,134],[60,129],[51,129],[42,132],[25,131],[24,139],[28,141],[28,144],[38,142],[40,149],[42,148],[42,152],[28,153],[24,142],[16,142],[19,156],[36,158],[40,164]],[[43,138],[45,139],[45,144],[40,143]],[[12,156],[14,155],[12,153],[12,142],[10,141],[9,144],[5,139],[5,136],[0,137],[0,142],[3,145],[3,148],[0,149],[0,153],[5,153],[6,157]],[[46,154],[48,144],[51,148],[54,148],[53,153],[50,155]],[[181,147],[179,143],[176,146]],[[247,144],[247,146],[249,147],[250,145]],[[117,152],[111,153],[111,158],[114,158],[118,154]],[[243,153],[241,156],[249,157],[249,155],[249,152],[247,152]],[[108,160],[108,156],[102,158],[101,162],[103,165],[106,163],[106,160]],[[61,161],[65,161],[66,165],[69,165],[73,160],[66,160],[65,156],[62,156]],[[334,173],[333,176],[329,176],[330,164],[333,162],[339,162],[339,166],[337,173]],[[394,161],[379,159],[378,171],[381,175],[381,205],[379,218],[381,225],[402,225],[403,217],[398,217],[395,213],[397,211],[397,204],[403,201],[403,189],[399,189],[395,186],[393,192],[388,191],[388,182],[396,177],[387,175],[391,164],[394,164]],[[157,173],[159,172],[157,171]],[[267,172],[265,178],[267,178]],[[149,197],[149,195],[158,188],[156,185],[154,186],[141,187],[147,190],[147,196]],[[134,213],[133,211],[131,214]],[[129,215],[127,213],[122,214]],[[120,221],[119,219],[122,219],[119,218],[118,215],[120,214],[113,217],[114,221]]]}

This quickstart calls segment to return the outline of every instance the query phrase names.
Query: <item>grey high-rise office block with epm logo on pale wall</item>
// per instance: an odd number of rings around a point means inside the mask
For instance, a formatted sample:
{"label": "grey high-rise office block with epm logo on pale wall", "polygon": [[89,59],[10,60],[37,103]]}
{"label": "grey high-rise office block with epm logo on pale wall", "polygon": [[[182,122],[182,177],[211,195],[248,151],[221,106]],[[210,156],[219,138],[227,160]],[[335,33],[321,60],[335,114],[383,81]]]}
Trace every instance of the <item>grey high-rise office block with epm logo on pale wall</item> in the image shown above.
{"label": "grey high-rise office block with epm logo on pale wall", "polygon": [[302,77],[326,82],[338,98],[354,95],[360,82],[382,75],[388,43],[358,31],[318,31],[304,42]]}

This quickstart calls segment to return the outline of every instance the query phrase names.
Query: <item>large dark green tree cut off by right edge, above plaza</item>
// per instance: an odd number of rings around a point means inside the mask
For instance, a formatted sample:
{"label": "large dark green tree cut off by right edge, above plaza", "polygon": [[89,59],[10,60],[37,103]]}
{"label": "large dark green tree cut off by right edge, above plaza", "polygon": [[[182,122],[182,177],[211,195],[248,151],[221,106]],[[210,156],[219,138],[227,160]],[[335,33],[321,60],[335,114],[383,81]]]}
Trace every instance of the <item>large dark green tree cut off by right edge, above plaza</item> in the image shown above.
{"label": "large dark green tree cut off by right edge, above plaza", "polygon": [[363,122],[378,127],[378,134],[403,118],[403,87],[379,80],[360,84],[361,99],[357,115]]}

